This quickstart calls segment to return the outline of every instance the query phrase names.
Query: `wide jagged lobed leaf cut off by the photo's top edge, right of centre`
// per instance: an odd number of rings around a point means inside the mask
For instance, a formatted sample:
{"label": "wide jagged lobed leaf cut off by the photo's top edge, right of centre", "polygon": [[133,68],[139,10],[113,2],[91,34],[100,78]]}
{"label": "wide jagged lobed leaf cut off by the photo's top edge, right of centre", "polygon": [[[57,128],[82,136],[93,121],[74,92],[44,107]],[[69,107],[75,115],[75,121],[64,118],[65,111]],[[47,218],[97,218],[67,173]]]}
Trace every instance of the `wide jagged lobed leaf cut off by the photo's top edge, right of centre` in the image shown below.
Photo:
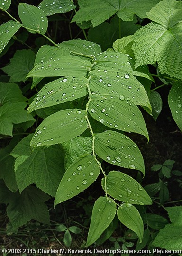
{"label": "wide jagged lobed leaf cut off by the photo's top edge, right of centre", "polygon": [[91,20],[95,27],[114,14],[124,21],[132,21],[134,14],[145,18],[146,12],[158,2],[159,0],[79,0],[80,9],[72,22],[82,23]]}

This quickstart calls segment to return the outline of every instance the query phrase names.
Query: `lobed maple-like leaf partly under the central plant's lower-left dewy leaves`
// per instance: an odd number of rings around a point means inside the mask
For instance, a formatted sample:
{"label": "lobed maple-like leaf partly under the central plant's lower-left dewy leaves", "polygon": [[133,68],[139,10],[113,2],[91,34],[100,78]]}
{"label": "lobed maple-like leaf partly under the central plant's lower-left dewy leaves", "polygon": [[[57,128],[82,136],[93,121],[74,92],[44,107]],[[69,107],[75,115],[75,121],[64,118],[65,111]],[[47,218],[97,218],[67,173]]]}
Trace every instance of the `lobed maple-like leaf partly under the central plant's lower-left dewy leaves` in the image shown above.
{"label": "lobed maple-like leaf partly under the central plant's lower-left dewy leaves", "polygon": [[64,174],[64,153],[60,145],[38,148],[31,153],[32,134],[23,138],[11,152],[16,158],[15,175],[19,191],[35,183],[45,193],[55,196]]}

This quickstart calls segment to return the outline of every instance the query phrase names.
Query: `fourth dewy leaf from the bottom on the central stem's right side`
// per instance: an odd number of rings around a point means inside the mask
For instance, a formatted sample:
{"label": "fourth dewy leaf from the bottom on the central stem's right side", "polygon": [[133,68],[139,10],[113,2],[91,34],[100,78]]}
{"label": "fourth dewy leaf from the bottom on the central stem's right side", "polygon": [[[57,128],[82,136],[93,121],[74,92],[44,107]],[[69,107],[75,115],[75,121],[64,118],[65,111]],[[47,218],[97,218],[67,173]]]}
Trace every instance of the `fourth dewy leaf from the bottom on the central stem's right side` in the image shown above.
{"label": "fourth dewy leaf from the bottom on the central stem's right side", "polygon": [[136,132],[146,136],[148,133],[143,116],[138,107],[123,95],[115,94],[91,95],[89,113],[104,125],[127,132]]}

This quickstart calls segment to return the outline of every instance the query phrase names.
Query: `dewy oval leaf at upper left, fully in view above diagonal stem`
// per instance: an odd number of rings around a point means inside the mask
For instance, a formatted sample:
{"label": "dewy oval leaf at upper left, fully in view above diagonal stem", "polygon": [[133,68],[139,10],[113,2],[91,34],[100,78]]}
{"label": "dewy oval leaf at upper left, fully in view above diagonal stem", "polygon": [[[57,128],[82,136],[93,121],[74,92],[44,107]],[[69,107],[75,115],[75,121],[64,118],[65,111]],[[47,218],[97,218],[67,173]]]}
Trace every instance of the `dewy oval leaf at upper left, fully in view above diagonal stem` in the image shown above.
{"label": "dewy oval leaf at upper left, fully in view above diagonal stem", "polygon": [[44,12],[36,6],[29,5],[27,3],[20,3],[18,5],[18,15],[23,25],[27,27],[27,30],[30,33],[45,34],[47,31],[48,20]]}

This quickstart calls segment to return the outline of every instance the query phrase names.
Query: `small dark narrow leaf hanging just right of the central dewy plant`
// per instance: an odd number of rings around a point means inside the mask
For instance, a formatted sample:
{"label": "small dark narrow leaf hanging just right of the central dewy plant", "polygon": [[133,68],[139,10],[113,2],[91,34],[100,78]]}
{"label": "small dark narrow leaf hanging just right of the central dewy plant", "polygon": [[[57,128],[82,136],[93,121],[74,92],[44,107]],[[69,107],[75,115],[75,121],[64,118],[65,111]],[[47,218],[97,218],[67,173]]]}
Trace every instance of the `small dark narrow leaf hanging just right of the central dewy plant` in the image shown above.
{"label": "small dark narrow leaf hanging just right of the central dewy plant", "polygon": [[151,91],[150,93],[150,104],[152,107],[152,116],[156,121],[163,107],[163,101],[160,94],[157,91]]}

